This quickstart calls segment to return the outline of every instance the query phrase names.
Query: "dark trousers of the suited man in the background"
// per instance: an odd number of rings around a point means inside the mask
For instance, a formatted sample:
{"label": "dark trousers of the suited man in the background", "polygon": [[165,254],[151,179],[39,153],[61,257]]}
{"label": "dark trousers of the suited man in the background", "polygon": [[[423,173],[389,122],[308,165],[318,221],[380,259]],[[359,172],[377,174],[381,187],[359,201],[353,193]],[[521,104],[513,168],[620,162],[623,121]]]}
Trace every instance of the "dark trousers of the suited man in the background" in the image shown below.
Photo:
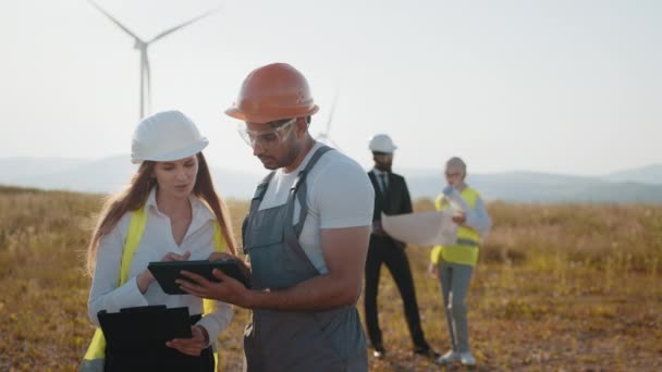
{"label": "dark trousers of the suited man in the background", "polygon": [[377,315],[377,292],[382,263],[384,263],[391,272],[393,280],[397,285],[397,289],[400,290],[414,347],[418,349],[428,349],[428,343],[426,342],[422,328],[420,327],[418,303],[416,301],[414,280],[412,277],[412,271],[409,270],[407,255],[405,255],[404,248],[400,247],[392,239],[381,238],[375,235],[370,237],[370,247],[368,248],[368,258],[366,261],[366,288],[364,292],[366,326],[372,347],[383,348],[381,330],[379,328],[379,319]]}

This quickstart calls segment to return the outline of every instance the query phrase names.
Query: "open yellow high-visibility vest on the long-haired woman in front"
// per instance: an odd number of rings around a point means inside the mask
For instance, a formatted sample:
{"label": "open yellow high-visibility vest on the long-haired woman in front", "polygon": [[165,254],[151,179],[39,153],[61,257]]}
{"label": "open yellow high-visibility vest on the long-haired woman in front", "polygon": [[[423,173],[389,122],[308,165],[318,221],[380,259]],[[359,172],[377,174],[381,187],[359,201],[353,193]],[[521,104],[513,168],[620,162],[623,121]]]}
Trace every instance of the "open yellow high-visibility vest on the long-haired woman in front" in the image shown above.
{"label": "open yellow high-visibility vest on the long-haired woman in front", "polygon": [[[131,220],[128,222],[128,232],[126,234],[126,244],[124,245],[124,251],[122,252],[122,264],[120,265],[120,282],[118,287],[126,283],[128,278],[128,270],[131,268],[131,261],[133,256],[140,244],[145,226],[147,225],[147,213],[145,213],[145,206],[137,211],[131,213]],[[223,239],[221,227],[218,221],[213,224],[213,246],[217,252],[224,252],[226,250],[226,243]],[[213,309],[213,301],[205,299],[203,302],[205,314],[208,314]],[[214,340],[211,340],[212,344]],[[100,327],[97,327],[95,335],[89,343],[87,352],[83,358],[83,362],[78,368],[81,372],[88,371],[103,371],[103,362],[106,358],[106,338]],[[214,370],[218,369],[219,356],[218,350],[213,352]]]}

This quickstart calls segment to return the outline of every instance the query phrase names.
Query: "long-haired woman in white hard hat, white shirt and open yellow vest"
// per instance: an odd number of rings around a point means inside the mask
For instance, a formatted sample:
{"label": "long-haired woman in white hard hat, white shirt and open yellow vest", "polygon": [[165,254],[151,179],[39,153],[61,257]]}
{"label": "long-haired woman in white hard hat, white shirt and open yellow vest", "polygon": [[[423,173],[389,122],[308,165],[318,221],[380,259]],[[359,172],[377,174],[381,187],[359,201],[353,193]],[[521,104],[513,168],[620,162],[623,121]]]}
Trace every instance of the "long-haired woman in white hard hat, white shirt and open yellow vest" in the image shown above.
{"label": "long-haired woman in white hard hat, white shirt and open yellow vest", "polygon": [[231,306],[167,295],[147,270],[150,261],[205,260],[222,248],[236,253],[230,215],[201,152],[207,144],[179,111],[159,112],[138,123],[132,161],[140,165],[127,188],[106,202],[87,255],[93,323],[99,325],[100,310],[188,307],[193,337],[135,355],[113,355],[97,331],[81,370],[214,370],[211,345],[232,319]]}

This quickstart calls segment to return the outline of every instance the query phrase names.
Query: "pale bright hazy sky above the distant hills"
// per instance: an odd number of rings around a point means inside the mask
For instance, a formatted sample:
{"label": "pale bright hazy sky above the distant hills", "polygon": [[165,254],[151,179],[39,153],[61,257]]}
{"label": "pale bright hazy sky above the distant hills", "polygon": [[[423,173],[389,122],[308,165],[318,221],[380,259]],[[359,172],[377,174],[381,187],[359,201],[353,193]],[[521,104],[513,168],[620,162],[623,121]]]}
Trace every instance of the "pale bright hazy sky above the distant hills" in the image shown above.
{"label": "pale bright hazy sky above the distant hills", "polygon": [[[662,162],[658,0],[98,0],[150,47],[152,111],[180,109],[217,166],[260,164],[223,114],[243,78],[289,62],[323,131],[368,166],[388,133],[395,168],[601,174]],[[84,0],[0,2],[0,158],[128,153],[138,116],[133,39]]]}

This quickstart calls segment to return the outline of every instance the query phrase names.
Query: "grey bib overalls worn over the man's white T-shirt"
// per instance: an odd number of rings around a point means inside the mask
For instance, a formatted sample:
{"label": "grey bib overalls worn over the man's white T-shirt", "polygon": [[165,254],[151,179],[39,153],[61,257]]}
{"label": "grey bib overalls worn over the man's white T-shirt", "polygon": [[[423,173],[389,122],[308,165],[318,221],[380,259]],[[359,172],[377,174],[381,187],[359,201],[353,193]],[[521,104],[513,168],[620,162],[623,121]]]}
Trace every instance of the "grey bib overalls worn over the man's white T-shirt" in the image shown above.
{"label": "grey bib overalls worn over the man's white T-shirt", "polygon": [[[278,290],[319,275],[298,243],[308,212],[306,174],[329,147],[299,172],[287,202],[258,210],[273,172],[258,185],[244,221],[254,289]],[[295,198],[301,213],[293,226]],[[244,334],[247,371],[367,371],[366,339],[355,306],[326,311],[253,310]]]}

